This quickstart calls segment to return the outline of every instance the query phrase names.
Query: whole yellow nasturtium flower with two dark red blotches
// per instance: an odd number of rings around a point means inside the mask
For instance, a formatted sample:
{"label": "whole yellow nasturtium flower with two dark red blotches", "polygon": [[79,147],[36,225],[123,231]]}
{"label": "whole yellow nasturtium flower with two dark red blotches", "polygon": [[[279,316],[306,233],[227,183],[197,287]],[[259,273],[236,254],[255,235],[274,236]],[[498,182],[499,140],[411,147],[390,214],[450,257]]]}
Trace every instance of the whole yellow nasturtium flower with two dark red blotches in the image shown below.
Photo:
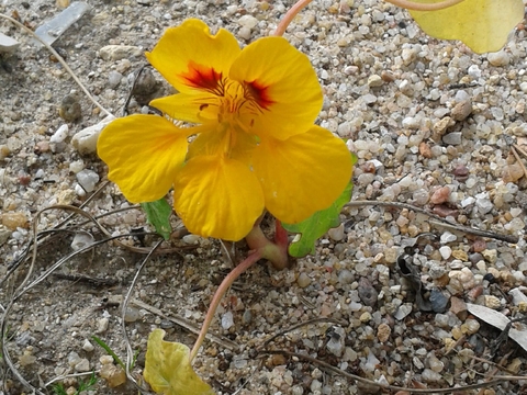
{"label": "whole yellow nasturtium flower with two dark red blotches", "polygon": [[227,31],[213,35],[191,19],[168,29],[146,57],[179,93],[150,103],[165,116],[117,119],[99,137],[108,177],[127,200],[153,202],[173,188],[189,232],[239,240],[264,208],[294,224],[344,191],[350,154],[313,124],[321,86],[283,37],[240,49]]}

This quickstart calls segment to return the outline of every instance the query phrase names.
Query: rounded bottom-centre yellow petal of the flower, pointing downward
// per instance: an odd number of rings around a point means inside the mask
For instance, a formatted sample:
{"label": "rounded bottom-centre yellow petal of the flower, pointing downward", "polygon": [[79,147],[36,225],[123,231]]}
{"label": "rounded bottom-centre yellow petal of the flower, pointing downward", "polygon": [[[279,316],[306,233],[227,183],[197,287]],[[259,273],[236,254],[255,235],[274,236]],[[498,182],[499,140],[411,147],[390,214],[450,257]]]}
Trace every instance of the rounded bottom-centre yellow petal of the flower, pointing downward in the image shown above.
{"label": "rounded bottom-centre yellow petal of the flower, pointing downward", "polygon": [[222,156],[198,156],[178,173],[173,206],[190,233],[236,241],[264,211],[264,195],[247,166]]}

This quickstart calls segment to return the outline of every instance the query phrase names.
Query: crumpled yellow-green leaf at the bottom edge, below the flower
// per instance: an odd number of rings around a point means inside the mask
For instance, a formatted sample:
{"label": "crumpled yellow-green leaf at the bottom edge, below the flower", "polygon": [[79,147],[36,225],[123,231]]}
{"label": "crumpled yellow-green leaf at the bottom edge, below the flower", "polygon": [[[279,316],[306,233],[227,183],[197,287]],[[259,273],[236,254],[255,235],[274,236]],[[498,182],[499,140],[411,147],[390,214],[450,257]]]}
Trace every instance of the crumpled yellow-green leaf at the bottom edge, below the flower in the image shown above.
{"label": "crumpled yellow-green leaf at the bottom edge, below the flower", "polygon": [[145,381],[162,395],[214,395],[190,365],[187,346],[164,341],[165,330],[154,329],[148,337]]}

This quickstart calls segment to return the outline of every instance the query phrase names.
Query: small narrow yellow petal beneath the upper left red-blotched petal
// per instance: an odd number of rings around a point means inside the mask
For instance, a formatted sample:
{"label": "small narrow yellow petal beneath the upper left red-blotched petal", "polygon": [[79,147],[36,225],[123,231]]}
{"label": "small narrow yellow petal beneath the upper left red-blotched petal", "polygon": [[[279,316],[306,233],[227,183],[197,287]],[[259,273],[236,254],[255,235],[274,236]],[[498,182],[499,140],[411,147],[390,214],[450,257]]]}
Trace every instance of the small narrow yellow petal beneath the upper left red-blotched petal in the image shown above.
{"label": "small narrow yellow petal beneath the upper left red-blotched petal", "polygon": [[209,92],[179,93],[155,99],[149,103],[172,120],[204,123],[217,121],[218,99]]}

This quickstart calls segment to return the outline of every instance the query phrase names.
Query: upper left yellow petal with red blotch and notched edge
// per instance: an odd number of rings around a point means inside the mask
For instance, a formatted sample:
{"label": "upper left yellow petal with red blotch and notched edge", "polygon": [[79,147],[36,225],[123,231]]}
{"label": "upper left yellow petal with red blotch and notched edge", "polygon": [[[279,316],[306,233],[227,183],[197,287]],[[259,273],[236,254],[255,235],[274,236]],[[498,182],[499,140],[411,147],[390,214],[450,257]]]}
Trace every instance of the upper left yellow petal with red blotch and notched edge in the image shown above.
{"label": "upper left yellow petal with red blotch and notched edge", "polygon": [[220,29],[212,35],[204,22],[190,19],[168,29],[146,57],[178,91],[214,92],[239,53],[229,32]]}

